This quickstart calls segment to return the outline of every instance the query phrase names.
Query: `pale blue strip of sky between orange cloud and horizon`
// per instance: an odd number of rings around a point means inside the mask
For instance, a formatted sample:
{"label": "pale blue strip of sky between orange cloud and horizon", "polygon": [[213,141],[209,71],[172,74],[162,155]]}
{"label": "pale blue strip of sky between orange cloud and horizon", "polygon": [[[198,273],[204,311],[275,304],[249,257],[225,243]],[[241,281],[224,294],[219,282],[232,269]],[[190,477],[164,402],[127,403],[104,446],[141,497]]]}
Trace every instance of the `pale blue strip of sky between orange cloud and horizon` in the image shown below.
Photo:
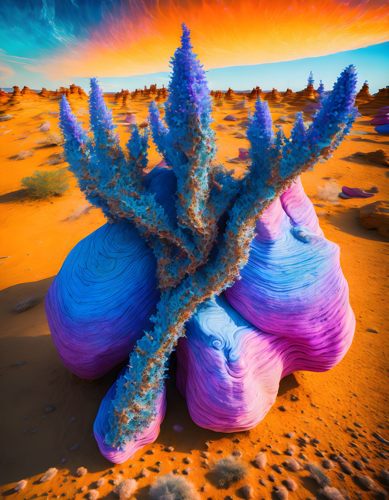
{"label": "pale blue strip of sky between orange cloud and horizon", "polygon": [[[335,54],[320,57],[306,57],[284,62],[270,62],[265,64],[253,64],[245,66],[230,66],[207,71],[209,88],[213,90],[226,90],[228,86],[235,90],[251,89],[259,85],[262,90],[270,90],[273,86],[278,90],[287,87],[293,91],[301,90],[306,84],[306,78],[313,71],[315,86],[321,79],[327,89],[332,87],[340,71],[348,64],[356,66],[358,73],[358,87],[364,80],[369,83],[370,93],[377,92],[378,88],[389,85],[389,42],[378,45],[370,45],[355,50],[337,52]],[[95,76],[95,75],[90,75]],[[96,75],[98,77],[98,75]],[[121,88],[134,90],[144,85],[149,86],[162,83],[167,86],[169,79],[168,71],[148,73],[138,76],[100,78],[104,91],[117,91]],[[58,88],[60,85],[75,83],[83,88],[88,88],[88,78],[72,78],[67,81],[50,81],[39,73],[31,73],[28,70],[19,70],[15,74],[5,78],[1,86],[11,87],[27,85],[30,88],[47,89]]]}

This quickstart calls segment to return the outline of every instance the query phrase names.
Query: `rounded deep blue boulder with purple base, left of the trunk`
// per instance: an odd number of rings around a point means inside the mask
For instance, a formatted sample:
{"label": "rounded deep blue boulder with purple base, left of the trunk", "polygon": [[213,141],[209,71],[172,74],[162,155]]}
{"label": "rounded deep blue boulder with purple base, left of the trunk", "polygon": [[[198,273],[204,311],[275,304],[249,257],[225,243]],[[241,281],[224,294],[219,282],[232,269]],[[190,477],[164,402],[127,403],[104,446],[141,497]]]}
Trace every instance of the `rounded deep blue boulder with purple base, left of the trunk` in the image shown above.
{"label": "rounded deep blue boulder with purple base, left of the trunk", "polygon": [[94,379],[125,359],[155,312],[155,268],[151,248],[130,223],[106,223],[75,245],[45,299],[67,368]]}

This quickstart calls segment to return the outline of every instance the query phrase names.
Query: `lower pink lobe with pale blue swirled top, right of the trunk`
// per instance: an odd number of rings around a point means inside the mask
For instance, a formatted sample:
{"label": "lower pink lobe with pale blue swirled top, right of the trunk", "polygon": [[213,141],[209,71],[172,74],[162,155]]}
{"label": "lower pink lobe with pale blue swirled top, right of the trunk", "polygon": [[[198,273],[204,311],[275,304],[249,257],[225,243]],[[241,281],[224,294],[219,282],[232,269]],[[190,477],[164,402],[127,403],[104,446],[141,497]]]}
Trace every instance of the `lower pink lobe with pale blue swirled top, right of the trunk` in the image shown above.
{"label": "lower pink lobe with pale blue swirled top, right of the trunk", "polygon": [[[348,315],[352,323],[352,311]],[[346,326],[328,333],[325,342],[265,333],[221,295],[199,307],[178,341],[177,387],[197,425],[219,432],[250,429],[274,403],[283,376],[331,368],[351,340]]]}

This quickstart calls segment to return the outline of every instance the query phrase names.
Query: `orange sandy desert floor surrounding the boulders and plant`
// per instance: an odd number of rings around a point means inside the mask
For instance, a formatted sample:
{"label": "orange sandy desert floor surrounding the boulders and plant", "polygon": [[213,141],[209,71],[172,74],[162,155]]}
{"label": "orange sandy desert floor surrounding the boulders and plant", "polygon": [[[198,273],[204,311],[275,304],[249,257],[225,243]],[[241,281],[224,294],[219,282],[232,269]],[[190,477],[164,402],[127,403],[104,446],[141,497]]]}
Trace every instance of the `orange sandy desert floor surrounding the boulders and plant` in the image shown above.
{"label": "orange sandy desert floor surrounding the boulders and plant", "polygon": [[[116,121],[123,112],[107,97],[113,107]],[[77,115],[87,121],[87,101],[72,102]],[[238,155],[238,147],[247,147],[244,138],[247,106],[242,98],[215,104],[213,116],[218,139],[218,155],[222,162]],[[388,446],[372,434],[389,438],[388,402],[388,307],[387,307],[387,247],[388,239],[359,224],[359,208],[375,200],[389,199],[389,166],[380,165],[355,152],[389,149],[388,135],[378,135],[369,124],[375,109],[361,106],[362,117],[357,118],[353,132],[345,137],[333,157],[326,163],[317,163],[313,171],[301,176],[305,192],[313,203],[322,205],[315,209],[319,215],[325,237],[340,246],[340,263],[349,285],[349,299],[356,318],[355,336],[344,359],[324,373],[296,372],[280,382],[275,404],[255,428],[230,434],[216,433],[196,426],[190,419],[185,400],[174,386],[174,370],[168,380],[167,411],[158,438],[138,451],[133,459],[120,465],[108,462],[100,454],[92,434],[92,426],[99,403],[113,383],[116,371],[102,379],[85,384],[75,381],[61,363],[44,313],[43,301],[32,308],[14,312],[14,306],[32,295],[43,294],[58,272],[70,249],[84,236],[104,223],[98,209],[89,207],[69,173],[69,189],[61,197],[35,201],[20,191],[20,180],[34,170],[62,168],[66,163],[48,164],[57,158],[61,146],[50,144],[52,136],[37,131],[43,122],[50,122],[50,132],[58,133],[58,100],[26,99],[3,110],[14,118],[1,122],[0,158],[1,174],[1,494],[15,499],[32,498],[86,498],[88,489],[104,476],[106,482],[98,488],[99,497],[117,498],[112,489],[123,478],[136,478],[143,467],[161,462],[161,472],[173,469],[179,473],[187,467],[183,459],[189,457],[191,471],[187,479],[194,483],[201,498],[222,500],[226,495],[243,498],[240,487],[249,482],[255,498],[275,498],[274,484],[280,485],[286,477],[297,483],[289,498],[305,499],[317,495],[317,485],[309,472],[275,472],[271,466],[280,465],[288,458],[287,445],[295,447],[295,456],[302,452],[306,460],[318,464],[334,452],[342,453],[351,463],[353,459],[368,457],[369,463],[362,473],[370,476],[380,488],[385,488],[378,478],[380,468],[388,468],[389,460],[378,452],[389,452]],[[137,122],[147,116],[147,101],[131,103]],[[303,106],[303,104],[302,104]],[[273,119],[296,111],[288,103],[270,107]],[[124,110],[125,111],[125,110]],[[233,113],[237,121],[224,121]],[[290,116],[289,116],[290,117]],[[291,119],[287,119],[288,134]],[[221,126],[218,126],[221,125]],[[126,125],[118,124],[121,142],[128,140]],[[356,130],[356,132],[355,132]],[[4,133],[5,132],[5,133]],[[366,133],[360,133],[366,132]],[[39,140],[43,143],[36,143]],[[44,143],[48,142],[48,143]],[[20,151],[33,155],[17,159]],[[149,166],[160,161],[152,147],[149,149]],[[240,168],[240,163],[225,163]],[[379,193],[372,199],[337,198],[342,185],[369,189],[376,185]],[[52,206],[51,206],[52,205]],[[90,209],[89,209],[90,208]],[[23,364],[18,364],[24,362]],[[173,363],[172,363],[173,365]],[[56,409],[47,413],[45,408]],[[285,411],[279,409],[284,406]],[[72,418],[72,417],[75,417]],[[176,432],[173,425],[184,430]],[[292,437],[285,433],[292,432]],[[303,443],[300,437],[306,440]],[[319,443],[312,442],[316,438]],[[207,443],[207,444],[206,444]],[[78,444],[77,449],[70,448]],[[164,451],[173,446],[172,452]],[[208,446],[208,449],[207,449]],[[208,464],[220,456],[228,456],[238,448],[241,458],[249,466],[248,480],[229,488],[216,486],[215,477]],[[152,450],[153,453],[150,452]],[[265,470],[251,463],[259,451],[266,452]],[[209,452],[208,463],[200,456]],[[173,460],[172,457],[175,457]],[[61,460],[65,458],[64,462]],[[88,469],[76,477],[77,467]],[[58,469],[55,477],[46,483],[39,478],[49,467]],[[331,486],[347,491],[349,498],[375,498],[375,493],[361,486],[355,474],[343,473],[339,464],[333,463],[325,471]],[[275,476],[275,482],[267,479]],[[134,493],[137,500],[148,497],[149,485],[158,475],[137,479]],[[258,479],[266,480],[266,486]],[[20,479],[27,486],[19,493],[13,487]],[[81,487],[86,486],[86,489]],[[202,488],[203,487],[203,488]],[[201,491],[201,488],[203,491]],[[387,488],[387,486],[386,486]]]}

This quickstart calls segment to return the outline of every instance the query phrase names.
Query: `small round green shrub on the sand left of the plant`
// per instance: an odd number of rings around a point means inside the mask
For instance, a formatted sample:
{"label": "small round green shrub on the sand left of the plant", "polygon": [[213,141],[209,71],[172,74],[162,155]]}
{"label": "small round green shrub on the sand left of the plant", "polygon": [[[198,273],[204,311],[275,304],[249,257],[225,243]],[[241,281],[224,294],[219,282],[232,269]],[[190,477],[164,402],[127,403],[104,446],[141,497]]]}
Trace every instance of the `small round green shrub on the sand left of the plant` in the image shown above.
{"label": "small round green shrub on the sand left of the plant", "polygon": [[49,196],[61,196],[69,187],[66,168],[59,170],[35,170],[30,177],[23,177],[21,185],[33,198],[45,199]]}

